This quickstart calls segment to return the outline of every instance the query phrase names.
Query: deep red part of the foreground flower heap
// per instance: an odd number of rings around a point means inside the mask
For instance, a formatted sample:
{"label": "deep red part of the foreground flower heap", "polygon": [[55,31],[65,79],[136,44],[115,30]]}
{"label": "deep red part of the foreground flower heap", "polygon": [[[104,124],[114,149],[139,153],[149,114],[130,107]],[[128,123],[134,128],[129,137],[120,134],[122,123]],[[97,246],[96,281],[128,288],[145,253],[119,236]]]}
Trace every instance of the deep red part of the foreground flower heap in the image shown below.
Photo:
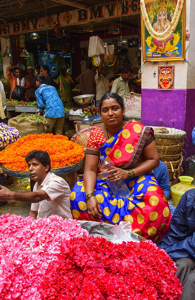
{"label": "deep red part of the foreground flower heap", "polygon": [[49,264],[40,295],[42,300],[179,300],[175,273],[175,263],[151,242],[72,238]]}

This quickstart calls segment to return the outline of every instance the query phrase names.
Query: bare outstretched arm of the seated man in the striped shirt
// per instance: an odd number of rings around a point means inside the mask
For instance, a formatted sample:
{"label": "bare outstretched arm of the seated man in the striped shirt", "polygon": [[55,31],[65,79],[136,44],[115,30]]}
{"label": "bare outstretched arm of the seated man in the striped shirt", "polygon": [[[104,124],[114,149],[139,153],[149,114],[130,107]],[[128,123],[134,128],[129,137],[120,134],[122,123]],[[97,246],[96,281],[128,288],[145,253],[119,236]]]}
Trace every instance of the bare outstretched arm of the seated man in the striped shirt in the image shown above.
{"label": "bare outstretched arm of the seated man in the striped shirt", "polygon": [[14,200],[26,203],[37,203],[48,198],[49,196],[44,190],[29,193],[16,193],[10,191],[7,187],[0,185],[0,202]]}

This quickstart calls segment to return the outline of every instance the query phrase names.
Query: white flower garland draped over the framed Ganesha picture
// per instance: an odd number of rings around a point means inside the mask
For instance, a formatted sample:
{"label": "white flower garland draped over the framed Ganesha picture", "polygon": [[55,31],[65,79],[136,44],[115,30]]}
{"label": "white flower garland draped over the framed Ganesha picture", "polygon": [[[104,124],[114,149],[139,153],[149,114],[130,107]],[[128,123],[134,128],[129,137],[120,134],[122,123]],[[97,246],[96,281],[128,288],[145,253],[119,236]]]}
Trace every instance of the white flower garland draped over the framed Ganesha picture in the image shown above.
{"label": "white flower garland draped over the framed Ganesha picture", "polygon": [[144,20],[146,28],[147,28],[149,34],[152,36],[152,38],[155,38],[157,41],[164,41],[173,34],[173,32],[175,31],[175,29],[177,27],[177,24],[179,22],[179,18],[180,18],[181,13],[182,13],[182,8],[183,8],[184,1],[185,0],[178,0],[177,1],[177,5],[176,5],[176,8],[175,8],[173,19],[171,20],[171,22],[169,23],[169,26],[167,27],[167,29],[164,32],[156,32],[153,29],[153,27],[152,27],[152,25],[149,21],[148,13],[147,13],[147,10],[146,10],[146,4],[145,4],[144,0],[140,1],[140,8],[141,8],[141,12],[142,12],[142,15],[143,15],[143,20]]}

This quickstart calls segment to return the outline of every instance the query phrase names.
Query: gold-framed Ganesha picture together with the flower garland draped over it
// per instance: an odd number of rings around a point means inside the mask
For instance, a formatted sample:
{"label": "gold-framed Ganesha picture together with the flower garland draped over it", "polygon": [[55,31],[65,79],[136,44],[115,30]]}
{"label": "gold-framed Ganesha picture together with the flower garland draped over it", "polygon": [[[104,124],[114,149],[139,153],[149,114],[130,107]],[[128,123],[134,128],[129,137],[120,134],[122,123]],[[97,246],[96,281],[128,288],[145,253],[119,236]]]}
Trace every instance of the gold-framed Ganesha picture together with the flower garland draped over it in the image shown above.
{"label": "gold-framed Ganesha picture together with the flower garland draped over it", "polygon": [[143,61],[185,59],[186,0],[140,0]]}

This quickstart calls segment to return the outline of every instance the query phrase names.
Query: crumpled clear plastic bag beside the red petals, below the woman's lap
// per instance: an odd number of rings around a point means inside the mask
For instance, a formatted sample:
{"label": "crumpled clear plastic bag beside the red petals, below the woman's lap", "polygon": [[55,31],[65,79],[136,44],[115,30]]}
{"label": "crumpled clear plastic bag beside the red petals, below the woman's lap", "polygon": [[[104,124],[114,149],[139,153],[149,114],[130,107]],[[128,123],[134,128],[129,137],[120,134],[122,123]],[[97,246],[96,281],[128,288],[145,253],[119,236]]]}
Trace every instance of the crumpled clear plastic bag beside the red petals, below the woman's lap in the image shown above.
{"label": "crumpled clear plastic bag beside the red petals, below the woman's lap", "polygon": [[129,221],[121,221],[119,225],[115,224],[111,229],[111,232],[113,232],[115,235],[111,240],[114,244],[122,244],[123,241],[140,241],[137,233],[132,232],[131,222]]}

